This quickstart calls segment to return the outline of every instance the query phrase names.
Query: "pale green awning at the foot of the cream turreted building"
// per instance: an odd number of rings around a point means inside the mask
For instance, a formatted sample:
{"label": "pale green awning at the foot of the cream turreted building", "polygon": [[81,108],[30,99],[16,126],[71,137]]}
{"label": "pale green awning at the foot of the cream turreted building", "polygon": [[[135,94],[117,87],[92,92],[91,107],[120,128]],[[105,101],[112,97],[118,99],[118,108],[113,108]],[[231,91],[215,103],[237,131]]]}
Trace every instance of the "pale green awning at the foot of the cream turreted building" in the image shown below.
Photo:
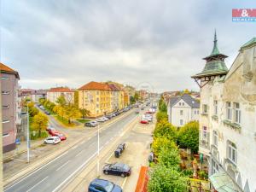
{"label": "pale green awning at the foot of the cream turreted building", "polygon": [[218,192],[236,192],[240,191],[236,187],[236,183],[232,181],[230,176],[225,172],[216,172],[209,177],[210,181]]}

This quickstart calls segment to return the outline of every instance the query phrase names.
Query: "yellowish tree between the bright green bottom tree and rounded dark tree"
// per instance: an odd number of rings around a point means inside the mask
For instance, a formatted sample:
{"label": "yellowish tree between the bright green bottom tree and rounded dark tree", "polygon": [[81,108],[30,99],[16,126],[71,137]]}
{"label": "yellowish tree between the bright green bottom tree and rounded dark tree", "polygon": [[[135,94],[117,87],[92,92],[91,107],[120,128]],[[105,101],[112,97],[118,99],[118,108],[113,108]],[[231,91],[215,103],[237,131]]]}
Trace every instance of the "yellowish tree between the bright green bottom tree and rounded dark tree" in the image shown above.
{"label": "yellowish tree between the bright green bottom tree and rounded dark tree", "polygon": [[152,143],[152,149],[156,156],[160,154],[161,149],[171,149],[175,148],[177,149],[176,143],[174,143],[172,140],[169,140],[166,137],[155,137],[154,142]]}

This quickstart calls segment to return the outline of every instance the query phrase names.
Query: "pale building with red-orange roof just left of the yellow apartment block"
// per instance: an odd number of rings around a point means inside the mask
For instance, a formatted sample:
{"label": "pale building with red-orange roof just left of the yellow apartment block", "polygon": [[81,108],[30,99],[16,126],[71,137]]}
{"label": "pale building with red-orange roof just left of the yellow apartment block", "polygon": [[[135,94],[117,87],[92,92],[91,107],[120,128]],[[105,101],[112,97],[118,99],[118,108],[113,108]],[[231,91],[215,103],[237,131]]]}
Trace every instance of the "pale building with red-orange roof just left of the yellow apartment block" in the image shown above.
{"label": "pale building with red-orange roof just left of the yellow apartment block", "polygon": [[47,91],[46,97],[49,102],[54,102],[56,104],[56,101],[60,96],[64,96],[66,102],[74,103],[74,90],[71,90],[68,87],[50,88]]}

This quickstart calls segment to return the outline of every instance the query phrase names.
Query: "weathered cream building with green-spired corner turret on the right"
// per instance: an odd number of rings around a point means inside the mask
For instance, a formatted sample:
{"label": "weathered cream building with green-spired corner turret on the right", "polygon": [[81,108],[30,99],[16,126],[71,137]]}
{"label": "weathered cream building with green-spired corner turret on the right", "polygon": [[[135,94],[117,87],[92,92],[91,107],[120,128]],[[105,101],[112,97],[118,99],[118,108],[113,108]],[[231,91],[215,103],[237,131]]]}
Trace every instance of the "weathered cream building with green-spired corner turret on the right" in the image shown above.
{"label": "weathered cream building with green-spired corner turret on the right", "polygon": [[199,150],[207,158],[209,176],[218,191],[256,190],[256,38],[241,46],[230,70],[218,50],[201,73]]}

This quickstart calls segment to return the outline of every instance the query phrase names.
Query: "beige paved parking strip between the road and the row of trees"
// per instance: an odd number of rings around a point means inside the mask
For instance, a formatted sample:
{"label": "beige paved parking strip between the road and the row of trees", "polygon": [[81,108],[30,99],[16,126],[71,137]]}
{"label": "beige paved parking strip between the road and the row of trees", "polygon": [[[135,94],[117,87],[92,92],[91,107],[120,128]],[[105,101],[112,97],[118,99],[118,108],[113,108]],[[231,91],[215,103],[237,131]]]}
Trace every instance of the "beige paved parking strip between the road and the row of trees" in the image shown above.
{"label": "beige paved parking strip between the road and the row of trees", "polygon": [[[100,177],[118,184],[124,192],[135,191],[141,166],[148,166],[148,154],[150,153],[150,143],[153,142],[151,135],[154,130],[155,119],[154,122],[149,125],[142,125],[139,123],[140,118],[141,116],[135,119],[134,123],[126,127],[119,137],[116,137],[111,145],[108,145],[108,148],[102,150],[100,155]],[[119,143],[126,143],[125,151],[119,158],[115,158],[113,151]],[[94,161],[90,163],[90,165],[84,167],[84,170],[74,177],[73,181],[68,183],[65,186],[65,189],[62,189],[61,191],[88,191],[90,181],[97,177],[96,157],[93,160]],[[131,176],[123,178],[104,175],[102,173],[102,167],[106,163],[114,162],[122,162],[131,166]]]}

